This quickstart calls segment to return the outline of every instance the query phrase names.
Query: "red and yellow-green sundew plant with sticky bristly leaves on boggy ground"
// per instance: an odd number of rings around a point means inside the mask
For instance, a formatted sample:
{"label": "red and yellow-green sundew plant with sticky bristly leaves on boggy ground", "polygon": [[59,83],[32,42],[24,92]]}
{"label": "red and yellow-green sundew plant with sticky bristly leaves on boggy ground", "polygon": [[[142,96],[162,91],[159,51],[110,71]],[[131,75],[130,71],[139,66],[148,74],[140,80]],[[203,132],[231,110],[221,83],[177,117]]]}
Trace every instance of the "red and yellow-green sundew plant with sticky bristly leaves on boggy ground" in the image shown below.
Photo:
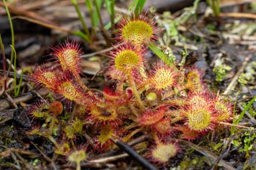
{"label": "red and yellow-green sundew plant with sticky bristly leaves on boggy ground", "polygon": [[[51,140],[55,153],[77,169],[88,155],[115,148],[113,139],[129,142],[141,134],[150,136],[148,146],[141,146],[146,149],[143,157],[166,164],[182,152],[179,140],[199,139],[232,118],[230,101],[208,89],[202,71],[166,62],[168,56],[156,64],[145,58],[160,33],[152,13],[125,15],[117,26],[115,40],[122,44],[108,52],[105,67],[114,85],[102,93],[82,83],[83,52],[75,41],[51,48],[55,67],[38,67],[32,75],[38,88],[55,93],[55,101],[40,101],[28,109],[33,120],[44,122],[28,134]],[[63,105],[71,108],[71,116],[63,113]],[[81,142],[82,134],[90,142]],[[86,147],[77,148],[76,142]]]}

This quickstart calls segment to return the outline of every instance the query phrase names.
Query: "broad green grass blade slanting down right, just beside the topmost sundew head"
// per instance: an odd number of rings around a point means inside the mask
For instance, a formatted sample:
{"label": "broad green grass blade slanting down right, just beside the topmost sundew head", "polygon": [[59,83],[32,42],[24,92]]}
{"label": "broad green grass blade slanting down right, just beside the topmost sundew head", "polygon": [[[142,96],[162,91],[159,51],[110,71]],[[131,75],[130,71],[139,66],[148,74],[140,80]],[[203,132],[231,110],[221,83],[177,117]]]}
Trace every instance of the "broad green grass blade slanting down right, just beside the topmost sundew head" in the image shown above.
{"label": "broad green grass blade slanting down right, just beside the topmost sundew head", "polygon": [[148,47],[162,60],[166,63],[166,65],[170,65],[170,67],[172,67],[174,70],[178,71],[177,67],[174,65],[174,63],[172,62],[172,60],[170,60],[170,58],[168,56],[166,56],[166,54],[164,54],[164,52],[162,52],[162,50],[160,50],[158,48],[158,46],[156,46],[156,44],[154,44],[153,42],[150,42],[150,44],[148,44]]}

